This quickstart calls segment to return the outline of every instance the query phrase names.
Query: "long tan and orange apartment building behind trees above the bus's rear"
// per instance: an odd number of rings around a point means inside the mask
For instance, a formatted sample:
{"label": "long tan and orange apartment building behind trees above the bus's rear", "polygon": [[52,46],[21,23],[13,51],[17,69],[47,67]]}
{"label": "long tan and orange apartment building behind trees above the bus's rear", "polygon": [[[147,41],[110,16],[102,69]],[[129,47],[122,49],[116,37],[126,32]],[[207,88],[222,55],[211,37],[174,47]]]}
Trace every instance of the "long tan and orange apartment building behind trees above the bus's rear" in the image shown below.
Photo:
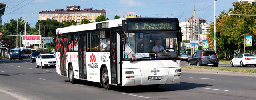
{"label": "long tan and orange apartment building behind trees above the bus's rear", "polygon": [[67,6],[66,10],[56,8],[55,11],[41,11],[39,12],[39,20],[53,19],[58,20],[58,22],[71,21],[74,20],[77,24],[80,24],[82,19],[87,19],[90,22],[95,22],[95,19],[100,16],[106,16],[106,11],[104,9],[97,10],[93,8],[81,9],[80,6]]}

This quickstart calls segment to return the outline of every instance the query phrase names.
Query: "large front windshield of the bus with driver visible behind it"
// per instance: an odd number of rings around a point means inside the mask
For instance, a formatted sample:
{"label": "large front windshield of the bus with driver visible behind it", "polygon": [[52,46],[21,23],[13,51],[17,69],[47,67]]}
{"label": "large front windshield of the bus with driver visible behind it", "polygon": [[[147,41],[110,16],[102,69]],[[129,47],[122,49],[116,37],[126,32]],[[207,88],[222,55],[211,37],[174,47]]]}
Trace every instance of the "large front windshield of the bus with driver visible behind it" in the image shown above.
{"label": "large front windshield of the bus with driver visible behind it", "polygon": [[138,59],[156,56],[157,53],[177,53],[177,32],[127,33],[124,45],[124,59]]}

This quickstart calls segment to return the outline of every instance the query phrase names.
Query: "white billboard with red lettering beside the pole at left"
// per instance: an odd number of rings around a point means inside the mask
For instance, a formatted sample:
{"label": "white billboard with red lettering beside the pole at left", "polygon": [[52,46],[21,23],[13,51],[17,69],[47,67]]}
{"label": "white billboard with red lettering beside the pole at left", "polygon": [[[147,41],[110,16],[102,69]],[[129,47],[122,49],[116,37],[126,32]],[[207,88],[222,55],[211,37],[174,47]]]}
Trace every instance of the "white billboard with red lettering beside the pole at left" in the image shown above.
{"label": "white billboard with red lettering beside the pole at left", "polygon": [[[27,44],[40,44],[41,36],[40,35],[26,35],[27,37]],[[25,43],[25,35],[22,35],[22,44]]]}

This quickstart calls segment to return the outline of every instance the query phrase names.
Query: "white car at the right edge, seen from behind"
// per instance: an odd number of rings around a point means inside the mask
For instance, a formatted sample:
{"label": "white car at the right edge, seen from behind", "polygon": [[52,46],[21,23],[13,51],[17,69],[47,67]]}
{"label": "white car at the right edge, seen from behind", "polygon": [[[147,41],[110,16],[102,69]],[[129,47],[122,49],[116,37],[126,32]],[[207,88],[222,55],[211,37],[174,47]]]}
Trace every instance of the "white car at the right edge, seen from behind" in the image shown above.
{"label": "white car at the right edge, seen from behind", "polygon": [[245,66],[254,65],[256,67],[256,56],[254,54],[238,54],[230,61],[230,66]]}

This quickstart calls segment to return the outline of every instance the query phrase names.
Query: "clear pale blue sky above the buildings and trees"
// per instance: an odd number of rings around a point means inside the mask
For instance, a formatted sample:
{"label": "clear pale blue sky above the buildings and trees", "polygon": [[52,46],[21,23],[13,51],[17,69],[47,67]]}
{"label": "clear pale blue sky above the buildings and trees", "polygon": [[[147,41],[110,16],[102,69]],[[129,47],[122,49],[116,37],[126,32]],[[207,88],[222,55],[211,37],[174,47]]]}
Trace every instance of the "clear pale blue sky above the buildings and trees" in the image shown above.
{"label": "clear pale blue sky above the buildings and trees", "polygon": [[[233,8],[232,3],[238,0],[217,0],[216,17],[220,11]],[[81,6],[81,9],[92,8],[106,10],[107,17],[112,20],[114,16],[123,17],[127,12],[135,12],[141,17],[168,17],[178,18],[179,21],[188,20],[191,17],[191,9],[195,6],[196,18],[214,21],[214,0],[1,0],[9,8],[5,9],[2,22],[10,22],[10,19],[22,20],[26,18],[28,24],[34,27],[39,20],[39,12],[42,10],[66,9],[66,6]],[[184,3],[186,5],[182,5]],[[211,5],[211,6],[210,6]],[[207,8],[208,7],[208,8]],[[206,8],[206,9],[205,9]],[[204,10],[203,10],[204,9]],[[199,11],[200,10],[200,11]]]}

